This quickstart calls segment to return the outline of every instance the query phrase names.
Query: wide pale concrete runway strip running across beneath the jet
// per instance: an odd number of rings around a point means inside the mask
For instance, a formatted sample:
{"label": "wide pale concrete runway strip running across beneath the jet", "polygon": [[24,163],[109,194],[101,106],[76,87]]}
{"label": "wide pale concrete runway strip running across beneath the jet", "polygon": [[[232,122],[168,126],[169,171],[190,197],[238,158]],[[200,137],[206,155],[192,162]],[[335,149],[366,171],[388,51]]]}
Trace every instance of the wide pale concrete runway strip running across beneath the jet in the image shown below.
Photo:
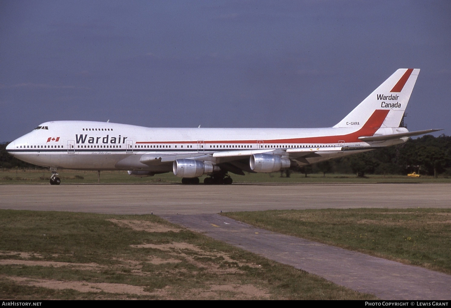
{"label": "wide pale concrete runway strip running across beneath the jet", "polygon": [[206,214],[304,208],[451,208],[451,184],[0,185],[0,208]]}

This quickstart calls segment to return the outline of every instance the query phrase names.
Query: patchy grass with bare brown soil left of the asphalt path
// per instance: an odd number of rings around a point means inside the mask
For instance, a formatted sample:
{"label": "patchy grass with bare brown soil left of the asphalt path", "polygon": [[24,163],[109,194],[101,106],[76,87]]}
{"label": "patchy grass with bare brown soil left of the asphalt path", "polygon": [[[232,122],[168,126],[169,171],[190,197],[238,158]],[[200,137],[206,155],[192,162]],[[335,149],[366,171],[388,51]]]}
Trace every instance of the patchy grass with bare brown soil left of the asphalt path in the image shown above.
{"label": "patchy grass with bare brown soil left of the asphalt path", "polygon": [[0,210],[1,299],[374,299],[154,215]]}

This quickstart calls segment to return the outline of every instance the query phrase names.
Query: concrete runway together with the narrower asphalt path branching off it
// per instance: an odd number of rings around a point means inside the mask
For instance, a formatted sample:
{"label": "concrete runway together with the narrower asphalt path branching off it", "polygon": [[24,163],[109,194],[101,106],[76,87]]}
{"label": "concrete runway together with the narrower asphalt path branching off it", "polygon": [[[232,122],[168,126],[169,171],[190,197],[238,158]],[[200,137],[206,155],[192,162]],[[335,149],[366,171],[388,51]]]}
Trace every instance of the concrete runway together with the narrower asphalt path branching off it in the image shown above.
{"label": "concrete runway together with the narrower asphalt path branching off it", "polygon": [[[260,229],[257,232],[262,235],[255,236],[253,227],[233,220],[230,225],[238,229],[229,232],[221,225],[229,218],[214,215],[220,211],[267,209],[417,207],[451,208],[451,184],[0,185],[0,208],[153,212],[194,231],[383,299],[450,299],[450,275]],[[218,219],[221,222],[216,222]],[[224,230],[218,232],[211,223]]]}

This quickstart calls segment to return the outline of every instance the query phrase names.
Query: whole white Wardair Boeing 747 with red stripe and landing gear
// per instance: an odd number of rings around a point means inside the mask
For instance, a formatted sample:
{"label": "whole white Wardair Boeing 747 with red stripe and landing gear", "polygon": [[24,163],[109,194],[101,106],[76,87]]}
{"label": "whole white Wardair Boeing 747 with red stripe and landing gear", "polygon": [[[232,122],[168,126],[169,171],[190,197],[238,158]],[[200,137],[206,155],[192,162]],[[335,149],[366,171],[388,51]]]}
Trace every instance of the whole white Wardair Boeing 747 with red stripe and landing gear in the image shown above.
{"label": "whole white Wardair Boeing 747 with red stripe and landing gear", "polygon": [[149,128],[90,121],[51,121],[11,142],[6,150],[50,168],[128,170],[147,177],[174,172],[184,184],[231,184],[230,173],[276,172],[405,142],[400,125],[419,69],[400,68],[334,127]]}

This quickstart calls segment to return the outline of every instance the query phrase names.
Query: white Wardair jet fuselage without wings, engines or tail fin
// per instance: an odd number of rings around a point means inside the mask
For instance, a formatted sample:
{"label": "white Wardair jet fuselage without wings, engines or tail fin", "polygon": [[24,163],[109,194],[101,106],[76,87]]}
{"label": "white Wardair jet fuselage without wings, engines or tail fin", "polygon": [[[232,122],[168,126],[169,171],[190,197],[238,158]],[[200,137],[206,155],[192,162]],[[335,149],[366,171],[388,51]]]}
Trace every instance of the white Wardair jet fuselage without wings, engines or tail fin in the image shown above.
{"label": "white Wardair jet fuselage without wings, engines or tail fin", "polygon": [[[90,121],[54,121],[39,127],[11,142],[8,152],[36,165],[78,170],[172,170],[172,162],[140,163],[143,154],[315,149],[319,155],[298,162],[302,165],[355,153],[321,153],[321,148],[369,146],[356,138],[359,133],[353,128],[149,128]],[[249,151],[246,154],[249,158]],[[227,159],[216,158],[213,163]]]}

